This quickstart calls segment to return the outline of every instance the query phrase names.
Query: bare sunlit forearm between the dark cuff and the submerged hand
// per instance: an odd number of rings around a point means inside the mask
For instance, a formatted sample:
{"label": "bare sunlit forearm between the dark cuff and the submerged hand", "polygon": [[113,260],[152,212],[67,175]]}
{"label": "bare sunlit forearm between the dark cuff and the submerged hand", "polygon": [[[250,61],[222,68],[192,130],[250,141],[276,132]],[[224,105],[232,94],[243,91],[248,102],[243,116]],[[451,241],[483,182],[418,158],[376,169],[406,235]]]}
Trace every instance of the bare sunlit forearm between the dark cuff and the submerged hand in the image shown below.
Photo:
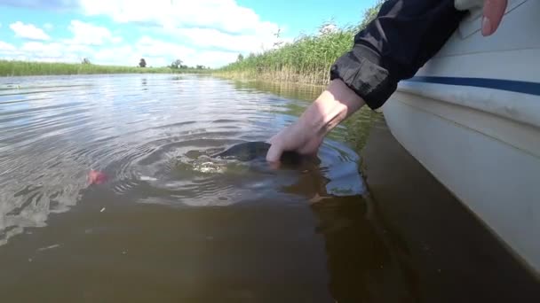
{"label": "bare sunlit forearm between the dark cuff and the submerged hand", "polygon": [[303,129],[312,133],[311,136],[323,137],[363,105],[364,100],[344,82],[334,80],[306,109],[298,122],[303,124]]}

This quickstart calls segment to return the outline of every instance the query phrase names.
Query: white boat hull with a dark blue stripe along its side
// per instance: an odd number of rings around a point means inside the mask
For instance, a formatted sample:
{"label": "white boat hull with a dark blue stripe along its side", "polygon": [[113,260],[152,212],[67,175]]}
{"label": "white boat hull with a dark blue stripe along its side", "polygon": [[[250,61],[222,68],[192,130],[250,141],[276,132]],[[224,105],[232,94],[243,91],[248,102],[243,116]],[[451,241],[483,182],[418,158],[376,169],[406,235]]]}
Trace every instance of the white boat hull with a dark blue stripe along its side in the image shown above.
{"label": "white boat hull with a dark blue stripe along its side", "polygon": [[[470,13],[382,107],[397,141],[540,276],[540,1]],[[436,201],[433,201],[436,203]]]}

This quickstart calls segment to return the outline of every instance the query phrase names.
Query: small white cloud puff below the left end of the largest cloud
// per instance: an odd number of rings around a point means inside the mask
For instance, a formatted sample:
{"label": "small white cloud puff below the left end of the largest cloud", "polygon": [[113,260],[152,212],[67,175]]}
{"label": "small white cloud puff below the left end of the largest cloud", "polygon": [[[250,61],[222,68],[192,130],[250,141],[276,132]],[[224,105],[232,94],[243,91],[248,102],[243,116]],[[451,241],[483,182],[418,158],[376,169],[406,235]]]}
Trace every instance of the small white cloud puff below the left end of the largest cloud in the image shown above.
{"label": "small white cloud puff below the left end of the largest cloud", "polygon": [[67,28],[73,33],[73,39],[68,41],[72,44],[102,45],[108,42],[120,43],[122,41],[121,37],[113,36],[107,27],[98,27],[79,20],[71,20]]}

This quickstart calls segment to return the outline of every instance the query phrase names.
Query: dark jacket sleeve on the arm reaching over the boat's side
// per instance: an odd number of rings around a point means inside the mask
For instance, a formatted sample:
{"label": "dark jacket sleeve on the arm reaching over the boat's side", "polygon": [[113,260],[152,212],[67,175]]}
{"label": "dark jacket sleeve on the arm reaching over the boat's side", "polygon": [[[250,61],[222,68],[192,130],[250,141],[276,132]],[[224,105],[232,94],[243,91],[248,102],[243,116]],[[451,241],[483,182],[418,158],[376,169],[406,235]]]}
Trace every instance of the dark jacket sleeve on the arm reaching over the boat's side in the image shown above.
{"label": "dark jacket sleeve on the arm reaching over the boat's side", "polygon": [[376,109],[441,49],[464,15],[454,0],[388,0],[331,66],[330,80],[341,79]]}

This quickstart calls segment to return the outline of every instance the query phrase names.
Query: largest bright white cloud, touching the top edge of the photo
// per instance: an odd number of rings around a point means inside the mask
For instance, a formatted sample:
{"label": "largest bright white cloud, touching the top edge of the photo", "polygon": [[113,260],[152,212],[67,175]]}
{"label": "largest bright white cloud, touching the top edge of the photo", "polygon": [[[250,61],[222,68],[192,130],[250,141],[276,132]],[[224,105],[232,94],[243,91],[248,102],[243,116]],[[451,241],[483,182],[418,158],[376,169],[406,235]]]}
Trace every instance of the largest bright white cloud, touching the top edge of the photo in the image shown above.
{"label": "largest bright white cloud, touching the top edge of the photo", "polygon": [[[248,53],[268,50],[277,41],[279,26],[263,21],[234,0],[81,0],[83,12],[105,15],[116,22],[142,22],[159,27],[179,43]],[[210,51],[210,50],[209,50]]]}

